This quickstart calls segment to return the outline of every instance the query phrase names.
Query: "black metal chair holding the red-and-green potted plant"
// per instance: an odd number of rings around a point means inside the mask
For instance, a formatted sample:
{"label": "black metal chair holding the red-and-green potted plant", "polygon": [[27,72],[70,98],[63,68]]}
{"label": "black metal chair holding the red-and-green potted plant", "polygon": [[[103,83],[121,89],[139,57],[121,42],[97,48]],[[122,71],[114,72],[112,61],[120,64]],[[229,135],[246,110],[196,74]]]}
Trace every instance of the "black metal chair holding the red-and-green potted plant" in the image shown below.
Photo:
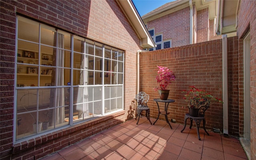
{"label": "black metal chair holding the red-and-green potted plant", "polygon": [[190,118],[190,129],[192,127],[192,122],[193,120],[196,122],[196,128],[197,128],[197,136],[198,136],[198,140],[201,140],[200,135],[199,135],[199,127],[200,127],[200,123],[203,120],[203,127],[204,127],[204,131],[206,132],[206,134],[209,136],[210,134],[206,131],[205,129],[205,119],[204,119],[204,112],[209,108],[209,105],[207,106],[202,106],[199,110],[199,114],[197,117],[193,117],[190,116],[188,113],[185,115],[185,124],[184,124],[184,128],[180,131],[183,132],[184,129],[186,128],[186,124],[187,124],[187,119]]}

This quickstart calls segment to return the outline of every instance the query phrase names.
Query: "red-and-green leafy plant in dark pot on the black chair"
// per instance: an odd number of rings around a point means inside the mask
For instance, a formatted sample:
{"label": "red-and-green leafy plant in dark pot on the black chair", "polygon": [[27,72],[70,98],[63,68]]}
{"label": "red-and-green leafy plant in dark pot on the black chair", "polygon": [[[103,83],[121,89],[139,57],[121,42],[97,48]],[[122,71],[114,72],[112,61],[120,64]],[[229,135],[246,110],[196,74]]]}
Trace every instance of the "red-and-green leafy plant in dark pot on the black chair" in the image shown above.
{"label": "red-and-green leafy plant in dark pot on the black chair", "polygon": [[187,106],[190,116],[197,117],[201,107],[210,106],[213,102],[221,102],[220,98],[212,96],[205,90],[200,90],[195,86],[190,86],[188,90],[183,90],[183,99],[188,102]]}

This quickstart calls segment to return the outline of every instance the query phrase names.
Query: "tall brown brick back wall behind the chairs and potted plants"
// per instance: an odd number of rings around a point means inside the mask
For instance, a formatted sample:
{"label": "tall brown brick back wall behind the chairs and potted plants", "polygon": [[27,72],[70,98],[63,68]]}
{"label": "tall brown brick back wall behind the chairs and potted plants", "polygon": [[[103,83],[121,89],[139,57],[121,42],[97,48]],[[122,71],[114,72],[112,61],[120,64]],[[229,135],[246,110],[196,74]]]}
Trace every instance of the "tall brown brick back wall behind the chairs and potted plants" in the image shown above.
{"label": "tall brown brick back wall behind the chairs and potted plants", "polygon": [[[238,38],[228,38],[228,93],[229,95],[229,134],[238,135]],[[169,98],[176,100],[170,104],[169,119],[184,124],[184,115],[188,112],[186,102],[182,99],[182,90],[188,86],[196,86],[211,92],[216,97],[222,97],[222,39],[201,42],[193,45],[168,48],[140,54],[140,90],[150,95],[150,116],[157,117],[158,108],[153,101],[159,98],[153,88],[157,86],[154,79],[157,75],[156,66],[170,68],[176,81],[170,84]],[[232,82],[232,80],[234,82]],[[236,96],[234,95],[236,94]],[[162,106],[163,107],[163,106]],[[234,112],[235,111],[235,112]],[[160,116],[164,119],[164,117]],[[235,123],[236,122],[236,123]],[[206,111],[206,128],[223,129],[222,104],[213,104]]]}

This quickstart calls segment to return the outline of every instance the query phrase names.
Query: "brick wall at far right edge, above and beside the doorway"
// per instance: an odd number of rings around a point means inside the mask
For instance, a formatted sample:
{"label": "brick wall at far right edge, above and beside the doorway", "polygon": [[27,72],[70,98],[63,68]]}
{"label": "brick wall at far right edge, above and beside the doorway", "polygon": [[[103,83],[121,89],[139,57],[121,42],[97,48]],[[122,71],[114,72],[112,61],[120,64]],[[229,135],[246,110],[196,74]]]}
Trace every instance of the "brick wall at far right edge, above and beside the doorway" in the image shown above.
{"label": "brick wall at far right edge, above and beside the doorway", "polygon": [[242,0],[238,10],[237,34],[239,38],[250,30],[250,107],[251,107],[251,159],[256,160],[256,1]]}

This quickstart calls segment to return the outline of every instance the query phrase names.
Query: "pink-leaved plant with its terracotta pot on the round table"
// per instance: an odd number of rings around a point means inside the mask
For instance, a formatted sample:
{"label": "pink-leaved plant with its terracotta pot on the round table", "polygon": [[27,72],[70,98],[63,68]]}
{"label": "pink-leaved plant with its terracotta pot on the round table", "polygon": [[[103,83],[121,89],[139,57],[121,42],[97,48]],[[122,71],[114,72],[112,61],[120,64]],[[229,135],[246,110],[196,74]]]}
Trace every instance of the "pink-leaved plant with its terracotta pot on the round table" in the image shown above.
{"label": "pink-leaved plant with its terracotta pot on the round table", "polygon": [[170,92],[170,90],[167,90],[167,88],[168,85],[175,80],[175,76],[174,73],[168,67],[157,67],[158,75],[156,76],[156,82],[158,83],[158,87],[154,88],[154,90],[158,90],[161,100],[167,100]]}

